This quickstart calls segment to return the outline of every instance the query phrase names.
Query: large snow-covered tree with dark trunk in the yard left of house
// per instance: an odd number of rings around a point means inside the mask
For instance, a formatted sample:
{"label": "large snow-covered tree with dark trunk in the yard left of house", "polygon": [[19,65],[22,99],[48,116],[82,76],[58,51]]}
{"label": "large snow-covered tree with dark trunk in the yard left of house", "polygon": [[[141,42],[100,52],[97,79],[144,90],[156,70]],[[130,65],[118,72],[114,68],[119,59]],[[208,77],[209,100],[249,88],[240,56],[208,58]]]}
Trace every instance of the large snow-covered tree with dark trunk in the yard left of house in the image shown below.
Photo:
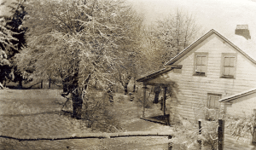
{"label": "large snow-covered tree with dark trunk in the yard left of house", "polygon": [[136,40],[137,14],[120,0],[35,0],[26,11],[27,48],[16,57],[20,70],[61,77],[72,93],[73,117],[80,118],[90,80],[111,82],[119,57]]}

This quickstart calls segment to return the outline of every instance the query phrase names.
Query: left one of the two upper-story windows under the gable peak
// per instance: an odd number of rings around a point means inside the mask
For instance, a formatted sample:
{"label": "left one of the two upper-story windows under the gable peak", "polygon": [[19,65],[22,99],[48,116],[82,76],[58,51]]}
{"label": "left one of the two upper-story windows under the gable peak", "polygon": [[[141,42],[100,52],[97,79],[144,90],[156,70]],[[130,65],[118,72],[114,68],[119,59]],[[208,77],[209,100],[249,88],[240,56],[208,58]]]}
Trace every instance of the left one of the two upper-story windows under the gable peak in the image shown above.
{"label": "left one of the two upper-story windows under the gable peak", "polygon": [[207,76],[207,53],[195,53],[195,72],[197,76]]}

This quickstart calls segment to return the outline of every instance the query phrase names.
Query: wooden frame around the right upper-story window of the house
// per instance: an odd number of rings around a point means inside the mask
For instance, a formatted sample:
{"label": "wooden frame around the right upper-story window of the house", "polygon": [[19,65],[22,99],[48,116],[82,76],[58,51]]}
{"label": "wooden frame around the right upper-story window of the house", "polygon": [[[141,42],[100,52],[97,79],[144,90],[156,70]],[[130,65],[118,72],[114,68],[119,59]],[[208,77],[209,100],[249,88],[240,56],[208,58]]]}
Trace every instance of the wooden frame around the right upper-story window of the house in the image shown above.
{"label": "wooden frame around the right upper-story window of the house", "polygon": [[[229,68],[230,66],[224,66],[224,59],[225,58],[231,58],[234,57],[234,75],[224,75],[224,68]],[[222,53],[221,56],[221,67],[220,67],[220,78],[236,78],[236,61],[237,61],[237,54],[236,53]]]}

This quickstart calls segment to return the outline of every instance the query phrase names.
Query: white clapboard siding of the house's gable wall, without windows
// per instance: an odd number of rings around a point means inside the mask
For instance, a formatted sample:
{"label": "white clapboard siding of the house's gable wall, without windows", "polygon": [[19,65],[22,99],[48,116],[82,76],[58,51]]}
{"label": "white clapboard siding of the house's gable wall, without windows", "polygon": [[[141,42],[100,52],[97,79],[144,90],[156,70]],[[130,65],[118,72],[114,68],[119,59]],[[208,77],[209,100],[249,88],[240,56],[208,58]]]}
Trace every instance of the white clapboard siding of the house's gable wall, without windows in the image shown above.
{"label": "white clapboard siding of the house's gable wall, without windows", "polygon": [[[195,52],[208,53],[207,77],[193,75]],[[220,78],[223,53],[236,53],[236,78]],[[176,81],[178,85],[177,99],[171,98],[166,102],[174,120],[180,117],[189,120],[204,118],[201,107],[207,105],[208,93],[224,98],[256,87],[255,64],[216,34],[198,44],[173,65],[183,66],[182,73],[164,73],[166,80]]]}

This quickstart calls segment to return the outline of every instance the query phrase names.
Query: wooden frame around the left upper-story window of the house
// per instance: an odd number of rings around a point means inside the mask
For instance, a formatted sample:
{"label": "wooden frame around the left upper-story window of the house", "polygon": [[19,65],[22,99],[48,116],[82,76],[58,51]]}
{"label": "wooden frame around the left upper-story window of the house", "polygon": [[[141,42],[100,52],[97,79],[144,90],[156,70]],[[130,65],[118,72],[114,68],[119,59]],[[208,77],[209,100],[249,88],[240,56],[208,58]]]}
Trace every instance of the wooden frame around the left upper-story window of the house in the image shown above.
{"label": "wooden frame around the left upper-story window of the house", "polygon": [[[197,56],[201,55],[201,56],[205,56],[206,57],[206,72],[196,72],[196,67],[197,67]],[[207,66],[208,66],[208,53],[206,52],[196,52],[195,56],[194,56],[194,72],[193,72],[193,76],[202,76],[202,77],[206,77],[207,76]]]}

